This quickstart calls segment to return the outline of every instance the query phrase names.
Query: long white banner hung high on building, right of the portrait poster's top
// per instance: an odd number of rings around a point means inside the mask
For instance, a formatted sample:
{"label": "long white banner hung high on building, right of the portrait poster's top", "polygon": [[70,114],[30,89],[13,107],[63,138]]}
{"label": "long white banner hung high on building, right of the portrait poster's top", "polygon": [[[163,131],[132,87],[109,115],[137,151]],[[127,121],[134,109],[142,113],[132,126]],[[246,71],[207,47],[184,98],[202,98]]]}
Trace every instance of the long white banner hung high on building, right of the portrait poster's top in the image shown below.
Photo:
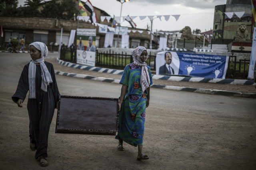
{"label": "long white banner hung high on building, right of the portrait poster's top", "polygon": [[108,25],[100,24],[99,25],[99,33],[109,33],[109,34],[118,34],[119,35],[127,35],[128,34],[128,27],[109,27]]}

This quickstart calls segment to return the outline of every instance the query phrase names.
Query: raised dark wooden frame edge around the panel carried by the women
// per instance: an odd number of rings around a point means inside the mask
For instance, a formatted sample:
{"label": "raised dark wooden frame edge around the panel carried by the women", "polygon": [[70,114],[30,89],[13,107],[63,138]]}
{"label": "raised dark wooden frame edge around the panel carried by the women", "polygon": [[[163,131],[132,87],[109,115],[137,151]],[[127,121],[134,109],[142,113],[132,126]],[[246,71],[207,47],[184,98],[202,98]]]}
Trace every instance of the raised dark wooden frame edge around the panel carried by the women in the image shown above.
{"label": "raised dark wooden frame edge around the panel carried by the women", "polygon": [[[117,101],[117,114],[116,114],[116,131],[100,131],[100,130],[84,130],[84,129],[58,129],[59,124],[59,114],[60,114],[60,105],[61,98],[86,98],[86,99],[98,99],[98,100],[116,100]],[[63,133],[63,134],[84,134],[84,135],[116,135],[118,132],[118,101],[119,98],[101,98],[101,97],[86,97],[86,96],[65,96],[60,95],[59,104],[57,106],[57,116],[56,116],[56,129],[55,133]]]}

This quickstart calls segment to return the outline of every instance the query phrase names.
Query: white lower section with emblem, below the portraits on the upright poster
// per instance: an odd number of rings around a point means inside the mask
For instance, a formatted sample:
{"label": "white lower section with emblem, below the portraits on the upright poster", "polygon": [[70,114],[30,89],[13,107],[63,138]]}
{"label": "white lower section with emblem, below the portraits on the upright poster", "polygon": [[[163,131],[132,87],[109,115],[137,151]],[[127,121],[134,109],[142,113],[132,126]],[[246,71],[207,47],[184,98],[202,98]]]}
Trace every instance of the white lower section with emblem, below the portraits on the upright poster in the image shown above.
{"label": "white lower section with emblem, below the portraits on the upright poster", "polygon": [[76,50],[76,63],[95,66],[95,52]]}

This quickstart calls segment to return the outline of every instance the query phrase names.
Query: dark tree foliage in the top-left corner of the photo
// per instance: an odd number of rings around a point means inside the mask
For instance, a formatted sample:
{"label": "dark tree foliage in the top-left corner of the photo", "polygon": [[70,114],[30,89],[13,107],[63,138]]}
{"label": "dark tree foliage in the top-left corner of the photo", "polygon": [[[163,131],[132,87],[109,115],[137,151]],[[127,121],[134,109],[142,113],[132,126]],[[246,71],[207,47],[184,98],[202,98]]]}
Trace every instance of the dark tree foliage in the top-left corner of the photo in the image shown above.
{"label": "dark tree foliage in the top-left corner of the photo", "polygon": [[18,0],[0,1],[0,16],[19,16]]}

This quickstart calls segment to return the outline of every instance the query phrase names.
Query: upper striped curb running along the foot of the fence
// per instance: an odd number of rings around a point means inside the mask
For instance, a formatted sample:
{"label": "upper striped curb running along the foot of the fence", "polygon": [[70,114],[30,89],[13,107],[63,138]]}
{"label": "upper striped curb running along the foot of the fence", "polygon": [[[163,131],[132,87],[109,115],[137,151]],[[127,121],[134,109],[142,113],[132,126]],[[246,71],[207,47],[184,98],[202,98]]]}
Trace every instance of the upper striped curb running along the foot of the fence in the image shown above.
{"label": "upper striped curb running along the foot of the fence", "polygon": [[[56,62],[62,64],[63,66],[68,66],[71,68],[78,68],[82,70],[90,70],[96,72],[103,72],[108,74],[118,74],[122,75],[123,70],[115,70],[110,68],[101,68],[93,66],[85,66],[80,64],[74,64],[60,59],[56,59]],[[222,79],[222,78],[199,78],[199,77],[183,77],[183,76],[164,76],[152,74],[152,79],[155,80],[168,80],[168,81],[183,81],[183,82],[204,82],[204,83],[216,83],[216,84],[238,84],[238,85],[256,85],[254,80],[237,80],[237,79]]]}

